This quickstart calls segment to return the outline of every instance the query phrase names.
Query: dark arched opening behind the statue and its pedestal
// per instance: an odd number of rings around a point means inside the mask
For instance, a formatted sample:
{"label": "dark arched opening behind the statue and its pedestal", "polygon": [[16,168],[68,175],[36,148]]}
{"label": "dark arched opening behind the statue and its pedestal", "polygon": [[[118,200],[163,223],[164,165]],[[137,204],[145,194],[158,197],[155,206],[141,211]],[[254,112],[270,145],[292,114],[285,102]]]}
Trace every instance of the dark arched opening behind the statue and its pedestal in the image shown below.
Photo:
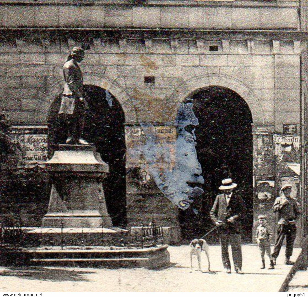
{"label": "dark arched opening behind the statue and its pedestal", "polygon": [[[83,136],[95,144],[109,165],[110,173],[103,180],[107,210],[113,225],[124,227],[127,224],[124,112],[116,98],[104,89],[92,85],[85,85],[84,89],[88,94],[89,112]],[[57,115],[60,103],[61,95],[54,100],[48,116],[50,155],[55,145],[67,138],[67,127]]]}

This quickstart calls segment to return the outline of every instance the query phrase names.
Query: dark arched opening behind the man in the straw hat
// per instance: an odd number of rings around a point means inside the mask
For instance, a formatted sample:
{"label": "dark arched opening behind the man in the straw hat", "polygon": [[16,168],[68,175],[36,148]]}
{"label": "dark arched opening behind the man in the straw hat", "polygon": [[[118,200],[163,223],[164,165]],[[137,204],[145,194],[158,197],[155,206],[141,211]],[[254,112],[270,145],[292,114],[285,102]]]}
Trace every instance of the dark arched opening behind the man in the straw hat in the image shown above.
{"label": "dark arched opening behind the man in the straw hat", "polygon": [[[209,211],[223,178],[232,177],[236,191],[245,200],[243,239],[252,241],[253,226],[253,138],[252,115],[245,100],[224,87],[207,87],[187,99],[199,120],[196,126],[197,157],[202,167],[205,193],[202,200],[180,211],[182,236],[199,238],[213,228]],[[216,231],[206,238],[217,242]]]}

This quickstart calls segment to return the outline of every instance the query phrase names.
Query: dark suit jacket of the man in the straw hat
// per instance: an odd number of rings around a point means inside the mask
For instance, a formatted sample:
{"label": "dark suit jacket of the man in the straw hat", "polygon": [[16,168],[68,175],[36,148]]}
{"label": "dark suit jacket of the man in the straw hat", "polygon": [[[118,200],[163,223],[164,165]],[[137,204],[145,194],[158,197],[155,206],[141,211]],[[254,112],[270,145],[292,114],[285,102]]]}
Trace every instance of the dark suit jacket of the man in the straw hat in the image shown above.
{"label": "dark suit jacket of the man in the straw hat", "polygon": [[[225,198],[225,194],[216,196],[212,210],[210,212],[213,222],[221,221],[222,226],[218,227],[221,232],[240,233],[241,232],[241,218],[245,216],[246,208],[243,199],[236,193],[232,193],[229,204]],[[233,223],[227,222],[227,219],[234,217]]]}

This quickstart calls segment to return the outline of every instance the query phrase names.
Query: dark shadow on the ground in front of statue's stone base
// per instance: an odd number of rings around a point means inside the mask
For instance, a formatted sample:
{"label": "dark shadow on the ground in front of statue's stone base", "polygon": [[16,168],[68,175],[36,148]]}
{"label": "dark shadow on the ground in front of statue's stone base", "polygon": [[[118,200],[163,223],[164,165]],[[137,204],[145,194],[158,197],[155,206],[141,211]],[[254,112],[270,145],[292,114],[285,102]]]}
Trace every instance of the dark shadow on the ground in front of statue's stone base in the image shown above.
{"label": "dark shadow on the ground in front of statue's stone base", "polygon": [[49,281],[72,281],[72,282],[88,282],[89,280],[83,276],[84,274],[95,273],[92,271],[75,271],[64,269],[50,269],[44,267],[11,267],[0,272],[0,276],[15,276],[21,279],[37,279]]}

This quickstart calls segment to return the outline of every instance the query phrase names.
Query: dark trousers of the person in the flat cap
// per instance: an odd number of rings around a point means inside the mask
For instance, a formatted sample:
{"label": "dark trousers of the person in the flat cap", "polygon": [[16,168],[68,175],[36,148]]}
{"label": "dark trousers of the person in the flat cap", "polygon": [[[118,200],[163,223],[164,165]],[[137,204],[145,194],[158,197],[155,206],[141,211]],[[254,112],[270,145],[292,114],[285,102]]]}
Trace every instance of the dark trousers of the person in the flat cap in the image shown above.
{"label": "dark trousers of the person in the flat cap", "polygon": [[277,229],[277,239],[274,247],[274,252],[272,254],[273,258],[277,258],[286,237],[286,258],[290,258],[293,253],[293,245],[296,237],[296,226],[293,225],[278,225]]}

